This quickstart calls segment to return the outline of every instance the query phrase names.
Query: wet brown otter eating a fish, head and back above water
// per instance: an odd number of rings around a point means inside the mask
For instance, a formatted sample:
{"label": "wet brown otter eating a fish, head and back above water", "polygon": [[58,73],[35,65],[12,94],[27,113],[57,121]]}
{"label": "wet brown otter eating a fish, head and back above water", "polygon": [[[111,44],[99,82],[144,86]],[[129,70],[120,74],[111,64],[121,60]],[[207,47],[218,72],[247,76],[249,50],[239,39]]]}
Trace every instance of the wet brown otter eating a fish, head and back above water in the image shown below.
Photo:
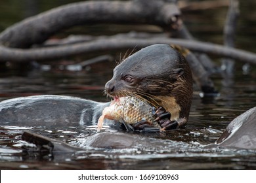
{"label": "wet brown otter eating a fish, head and back above water", "polygon": [[[192,75],[179,52],[167,44],[154,44],[121,61],[105,91],[111,97],[144,97],[171,113],[160,110],[161,119],[167,115],[171,122],[183,126],[188,121],[192,101]],[[0,103],[0,124],[95,125],[108,105],[58,95],[19,97]],[[167,120],[163,125],[171,122]]]}

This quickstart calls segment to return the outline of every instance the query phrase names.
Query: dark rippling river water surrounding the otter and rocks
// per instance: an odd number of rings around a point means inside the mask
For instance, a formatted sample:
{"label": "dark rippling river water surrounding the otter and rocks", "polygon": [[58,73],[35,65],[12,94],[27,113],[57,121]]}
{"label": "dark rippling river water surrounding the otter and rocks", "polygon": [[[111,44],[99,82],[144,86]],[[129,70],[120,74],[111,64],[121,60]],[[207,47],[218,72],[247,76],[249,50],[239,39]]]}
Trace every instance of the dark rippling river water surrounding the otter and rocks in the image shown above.
{"label": "dark rippling river water surrounding the otter and rocks", "polygon": [[[195,16],[198,16],[198,13],[195,12]],[[251,18],[244,19],[252,21]],[[224,17],[221,21],[223,20]],[[201,22],[205,23],[204,20]],[[188,23],[195,34],[200,35],[203,31],[196,29],[191,22]],[[209,27],[204,27],[206,35]],[[241,29],[245,30],[244,27]],[[220,30],[221,28],[213,33],[216,40],[221,37]],[[245,41],[245,35],[241,34],[241,30],[238,31],[238,45],[243,49],[255,51],[255,45],[251,43],[255,42],[255,22],[254,28],[248,32]],[[202,39],[205,35],[201,35]],[[209,40],[211,39],[213,38],[209,36]],[[250,45],[248,47],[244,46],[247,42]],[[219,60],[216,60],[216,63],[220,65]],[[3,69],[1,66],[0,101],[41,94],[108,101],[103,95],[104,84],[112,78],[115,65],[115,61],[95,63],[82,71],[68,71],[58,66],[49,69],[47,63],[37,69]],[[95,126],[1,125],[0,169],[256,169],[255,150],[205,148],[205,145],[214,143],[219,138],[236,116],[256,106],[255,66],[245,72],[242,71],[242,64],[238,63],[232,79],[224,80],[221,75],[216,74],[213,75],[213,82],[219,91],[219,95],[214,97],[200,97],[200,90],[195,86],[186,128],[166,133],[130,134],[141,141],[150,141],[151,145],[147,147],[139,143],[133,148],[123,149],[87,146],[87,139],[96,133]],[[29,148],[32,144],[21,140],[24,130],[82,147],[84,150],[56,156],[28,152],[24,150],[24,146]],[[125,133],[117,132],[111,127],[102,131]]]}

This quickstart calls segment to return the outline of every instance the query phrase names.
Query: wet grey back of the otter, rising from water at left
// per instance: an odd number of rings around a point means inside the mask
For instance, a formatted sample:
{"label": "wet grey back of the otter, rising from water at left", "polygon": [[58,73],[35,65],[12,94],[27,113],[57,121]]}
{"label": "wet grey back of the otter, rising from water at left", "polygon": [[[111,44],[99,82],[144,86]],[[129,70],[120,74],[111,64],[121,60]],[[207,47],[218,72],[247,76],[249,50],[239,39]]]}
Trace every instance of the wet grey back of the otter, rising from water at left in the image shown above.
{"label": "wet grey back of the otter, rising from water at left", "polygon": [[0,103],[1,125],[64,126],[95,125],[110,103],[98,103],[79,97],[35,95]]}

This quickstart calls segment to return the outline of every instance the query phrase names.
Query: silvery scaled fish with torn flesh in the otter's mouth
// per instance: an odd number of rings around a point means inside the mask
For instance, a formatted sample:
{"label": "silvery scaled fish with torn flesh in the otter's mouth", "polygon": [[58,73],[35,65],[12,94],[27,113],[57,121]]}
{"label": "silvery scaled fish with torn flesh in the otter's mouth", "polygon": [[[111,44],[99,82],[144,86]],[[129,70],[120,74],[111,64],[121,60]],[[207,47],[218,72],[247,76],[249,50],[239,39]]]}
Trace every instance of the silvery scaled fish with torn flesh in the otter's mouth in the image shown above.
{"label": "silvery scaled fish with torn flesh in the otter's mouth", "polygon": [[159,127],[158,123],[154,122],[154,107],[146,101],[132,96],[115,97],[110,106],[105,107],[102,111],[102,115],[98,119],[97,131],[102,129],[105,118],[117,122],[123,120],[130,125],[147,120],[153,126]]}

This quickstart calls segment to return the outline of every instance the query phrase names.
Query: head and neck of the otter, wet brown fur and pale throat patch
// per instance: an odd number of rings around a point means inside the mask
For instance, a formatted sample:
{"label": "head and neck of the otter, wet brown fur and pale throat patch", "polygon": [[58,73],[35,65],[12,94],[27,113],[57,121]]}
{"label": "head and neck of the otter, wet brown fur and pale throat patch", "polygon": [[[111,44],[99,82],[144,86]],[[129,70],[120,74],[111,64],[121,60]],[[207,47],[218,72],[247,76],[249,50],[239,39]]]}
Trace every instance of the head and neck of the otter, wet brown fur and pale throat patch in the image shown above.
{"label": "head and neck of the otter, wet brown fur and pale throat patch", "polygon": [[192,74],[182,55],[167,44],[148,46],[123,60],[105,89],[111,97],[133,95],[162,106],[179,125],[188,120]]}

